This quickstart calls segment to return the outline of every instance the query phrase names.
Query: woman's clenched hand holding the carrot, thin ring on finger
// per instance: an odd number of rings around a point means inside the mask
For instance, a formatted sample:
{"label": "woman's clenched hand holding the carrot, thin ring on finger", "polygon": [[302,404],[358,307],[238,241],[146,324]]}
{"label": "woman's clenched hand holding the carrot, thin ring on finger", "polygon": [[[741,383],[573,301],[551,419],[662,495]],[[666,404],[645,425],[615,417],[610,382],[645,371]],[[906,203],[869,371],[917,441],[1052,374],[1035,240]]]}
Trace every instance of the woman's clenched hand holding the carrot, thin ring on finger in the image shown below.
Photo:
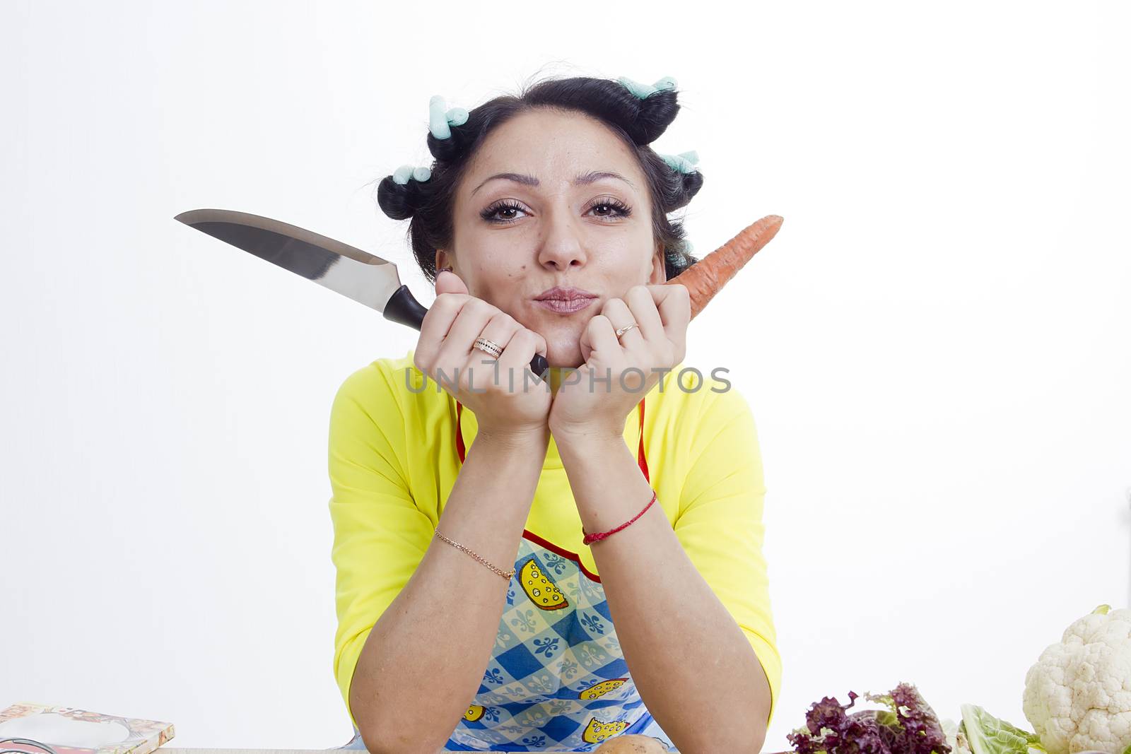
{"label": "woman's clenched hand holding the carrot, thin ring on finger", "polygon": [[[621,436],[624,419],[687,352],[691,298],[682,285],[637,285],[610,298],[581,333],[585,363],[568,373],[550,408],[555,441]],[[618,340],[615,330],[637,323]]]}

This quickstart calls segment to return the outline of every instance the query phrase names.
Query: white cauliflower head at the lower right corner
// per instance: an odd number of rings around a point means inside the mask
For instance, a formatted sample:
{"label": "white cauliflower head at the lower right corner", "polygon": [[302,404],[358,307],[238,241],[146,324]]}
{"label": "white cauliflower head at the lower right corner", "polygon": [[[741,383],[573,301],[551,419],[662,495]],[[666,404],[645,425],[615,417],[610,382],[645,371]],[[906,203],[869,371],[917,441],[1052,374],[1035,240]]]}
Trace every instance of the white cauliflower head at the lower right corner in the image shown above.
{"label": "white cauliflower head at the lower right corner", "polygon": [[1048,754],[1131,745],[1131,609],[1100,605],[1025,675],[1021,709]]}

